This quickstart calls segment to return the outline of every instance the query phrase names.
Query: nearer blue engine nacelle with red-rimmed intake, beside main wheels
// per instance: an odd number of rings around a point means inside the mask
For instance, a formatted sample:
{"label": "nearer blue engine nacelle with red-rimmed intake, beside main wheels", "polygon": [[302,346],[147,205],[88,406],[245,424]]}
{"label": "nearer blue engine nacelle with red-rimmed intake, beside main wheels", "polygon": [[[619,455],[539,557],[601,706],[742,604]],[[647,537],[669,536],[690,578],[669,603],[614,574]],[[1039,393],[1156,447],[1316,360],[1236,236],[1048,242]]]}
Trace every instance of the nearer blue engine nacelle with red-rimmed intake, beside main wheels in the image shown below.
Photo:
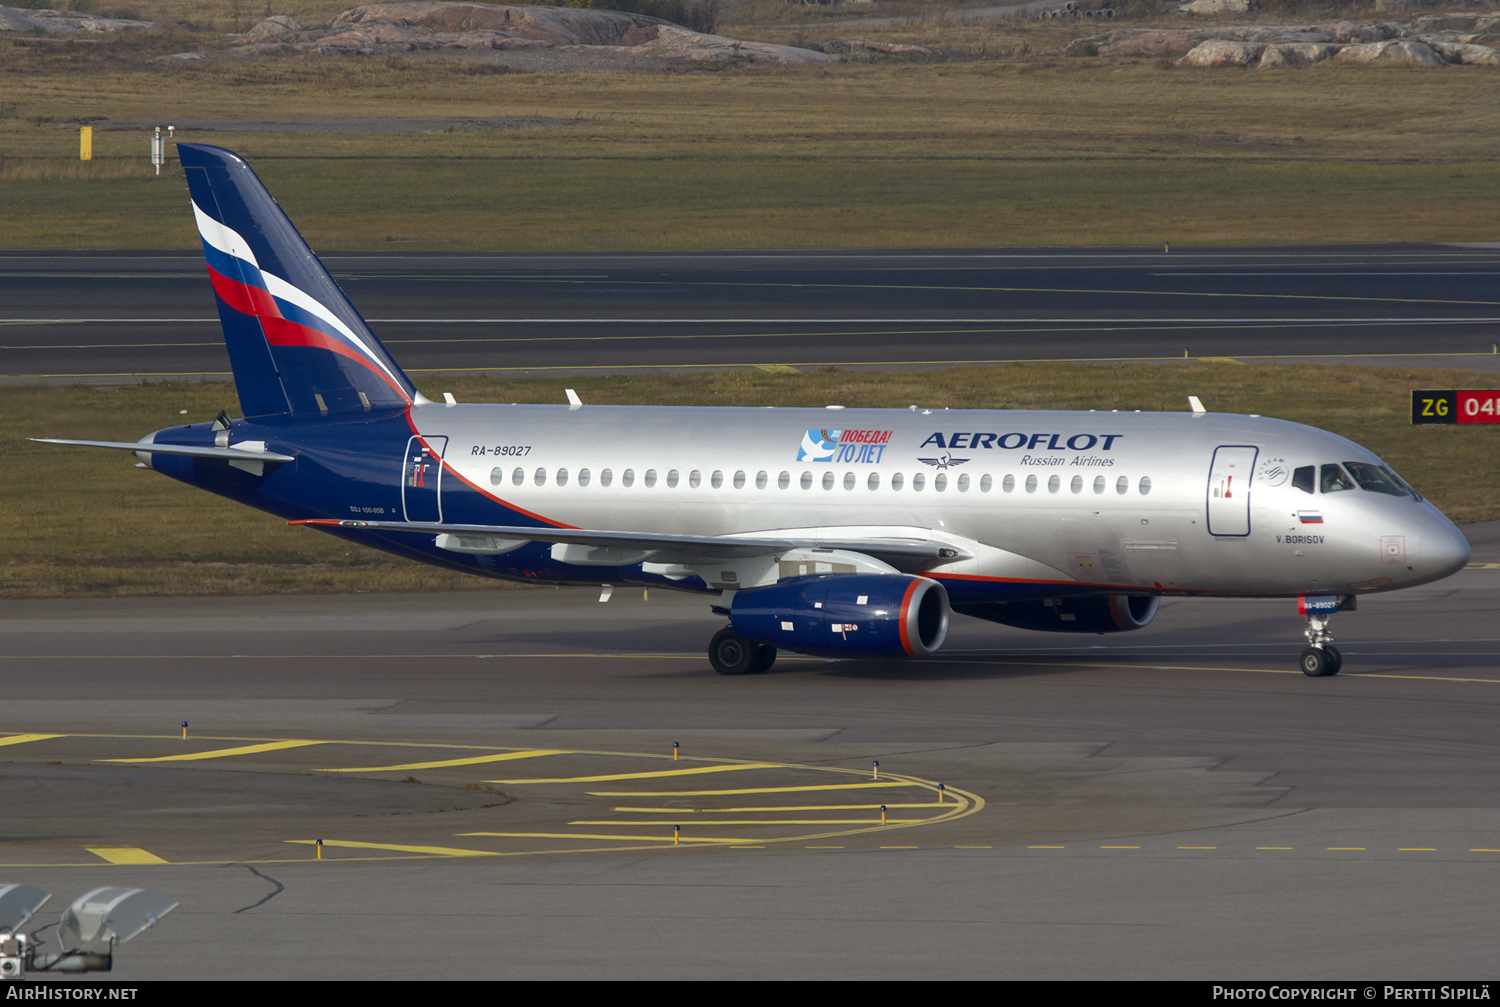
{"label": "nearer blue engine nacelle with red-rimmed intake, beside main wheels", "polygon": [[948,591],[902,573],[802,576],[735,594],[741,636],[820,657],[926,657],[948,638]]}

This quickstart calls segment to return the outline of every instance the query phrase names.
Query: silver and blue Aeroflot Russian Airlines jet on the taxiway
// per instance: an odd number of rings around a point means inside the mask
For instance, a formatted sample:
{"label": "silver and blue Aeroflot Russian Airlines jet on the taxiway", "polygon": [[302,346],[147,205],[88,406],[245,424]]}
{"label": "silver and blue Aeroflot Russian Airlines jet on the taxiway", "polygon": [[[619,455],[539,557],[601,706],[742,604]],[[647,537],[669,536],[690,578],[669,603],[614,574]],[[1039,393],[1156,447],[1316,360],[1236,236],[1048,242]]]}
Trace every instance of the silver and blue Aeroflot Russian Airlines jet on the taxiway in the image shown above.
{"label": "silver and blue Aeroflot Russian Airlines jet on the taxiway", "polygon": [[470,405],[423,396],[237,155],[178,144],[243,419],[116,447],[350,542],[478,576],[696,591],[723,674],[910,659],[952,612],[1062,633],[1167,596],[1282,597],[1302,671],[1360,594],[1468,543],[1371,452],[1262,416]]}

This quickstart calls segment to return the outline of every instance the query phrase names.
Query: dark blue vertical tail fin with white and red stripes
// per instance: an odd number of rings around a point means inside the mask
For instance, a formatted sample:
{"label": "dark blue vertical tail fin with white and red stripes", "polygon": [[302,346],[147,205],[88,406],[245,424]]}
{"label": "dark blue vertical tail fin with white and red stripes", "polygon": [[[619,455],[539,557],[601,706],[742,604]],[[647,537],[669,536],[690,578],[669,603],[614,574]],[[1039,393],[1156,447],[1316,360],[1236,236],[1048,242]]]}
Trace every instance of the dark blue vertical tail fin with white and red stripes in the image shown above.
{"label": "dark blue vertical tail fin with white and red stripes", "polygon": [[399,408],[417,389],[244,161],[177,144],[246,416]]}

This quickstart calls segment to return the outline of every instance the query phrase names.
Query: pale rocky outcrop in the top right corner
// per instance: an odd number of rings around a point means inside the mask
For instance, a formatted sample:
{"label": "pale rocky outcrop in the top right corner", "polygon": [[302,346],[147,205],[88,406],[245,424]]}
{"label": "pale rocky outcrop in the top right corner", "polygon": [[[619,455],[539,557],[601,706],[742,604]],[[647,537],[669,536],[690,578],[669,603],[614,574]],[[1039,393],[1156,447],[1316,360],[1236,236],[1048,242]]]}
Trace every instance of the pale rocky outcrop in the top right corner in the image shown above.
{"label": "pale rocky outcrop in the top right corner", "polygon": [[[1442,30],[1440,30],[1442,29]],[[1468,29],[1467,32],[1464,29]],[[1240,24],[1210,29],[1116,29],[1074,39],[1047,56],[1176,59],[1178,66],[1290,69],[1336,60],[1352,66],[1500,66],[1500,15],[1430,15],[1416,23]]]}

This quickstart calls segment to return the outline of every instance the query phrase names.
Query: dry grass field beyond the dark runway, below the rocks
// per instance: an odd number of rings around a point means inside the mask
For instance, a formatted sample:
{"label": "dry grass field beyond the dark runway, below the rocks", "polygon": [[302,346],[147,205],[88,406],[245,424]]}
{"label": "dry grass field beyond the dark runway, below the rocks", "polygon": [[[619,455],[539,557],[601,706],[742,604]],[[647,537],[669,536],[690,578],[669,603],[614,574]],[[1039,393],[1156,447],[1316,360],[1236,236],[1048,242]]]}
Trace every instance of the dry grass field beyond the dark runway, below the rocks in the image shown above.
{"label": "dry grass field beyond the dark runway, below the rocks", "polygon": [[[78,60],[52,63],[52,59]],[[484,134],[186,134],[316,248],[663,249],[1490,240],[1492,68],[1176,71],[993,59],[472,77],[440,60],[116,65],[0,42],[12,248],[190,248],[180,179],[82,117],[546,116]],[[72,68],[72,69],[69,69]],[[69,72],[63,72],[69,69]],[[134,173],[134,174],[132,174]]]}

